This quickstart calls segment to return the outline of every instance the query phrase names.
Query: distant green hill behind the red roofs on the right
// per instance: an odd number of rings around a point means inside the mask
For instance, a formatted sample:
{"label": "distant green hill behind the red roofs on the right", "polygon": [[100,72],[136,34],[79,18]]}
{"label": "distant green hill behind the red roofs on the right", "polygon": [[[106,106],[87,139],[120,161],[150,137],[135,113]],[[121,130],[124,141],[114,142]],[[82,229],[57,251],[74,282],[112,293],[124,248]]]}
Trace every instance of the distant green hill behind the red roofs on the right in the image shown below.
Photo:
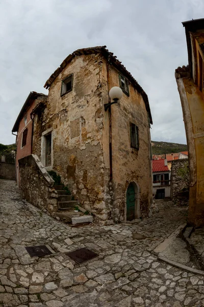
{"label": "distant green hill behind the red roofs on the right", "polygon": [[168,143],[151,141],[152,155],[162,155],[163,153],[173,153],[188,151],[188,147],[185,144]]}

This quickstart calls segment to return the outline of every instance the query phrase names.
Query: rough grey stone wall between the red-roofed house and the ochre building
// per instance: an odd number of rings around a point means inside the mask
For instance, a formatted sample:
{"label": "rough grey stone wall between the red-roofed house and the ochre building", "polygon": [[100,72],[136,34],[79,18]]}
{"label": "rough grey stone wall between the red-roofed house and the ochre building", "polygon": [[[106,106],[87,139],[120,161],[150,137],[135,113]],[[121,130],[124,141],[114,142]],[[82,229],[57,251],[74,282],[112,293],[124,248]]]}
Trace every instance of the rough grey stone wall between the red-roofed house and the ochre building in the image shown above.
{"label": "rough grey stone wall between the red-roofed house and the ochre building", "polygon": [[171,200],[178,206],[187,206],[189,204],[188,184],[179,176],[179,169],[188,166],[188,159],[173,160],[171,164]]}

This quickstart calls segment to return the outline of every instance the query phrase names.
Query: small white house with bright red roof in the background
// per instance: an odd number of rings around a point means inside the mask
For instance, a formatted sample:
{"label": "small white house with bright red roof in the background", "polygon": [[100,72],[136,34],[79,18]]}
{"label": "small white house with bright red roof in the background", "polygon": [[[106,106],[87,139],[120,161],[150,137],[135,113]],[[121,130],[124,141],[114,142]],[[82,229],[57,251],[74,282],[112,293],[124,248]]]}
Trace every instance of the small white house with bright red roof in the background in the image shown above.
{"label": "small white house with bright red roof in the background", "polygon": [[170,176],[167,159],[152,160],[152,193],[155,199],[170,197]]}

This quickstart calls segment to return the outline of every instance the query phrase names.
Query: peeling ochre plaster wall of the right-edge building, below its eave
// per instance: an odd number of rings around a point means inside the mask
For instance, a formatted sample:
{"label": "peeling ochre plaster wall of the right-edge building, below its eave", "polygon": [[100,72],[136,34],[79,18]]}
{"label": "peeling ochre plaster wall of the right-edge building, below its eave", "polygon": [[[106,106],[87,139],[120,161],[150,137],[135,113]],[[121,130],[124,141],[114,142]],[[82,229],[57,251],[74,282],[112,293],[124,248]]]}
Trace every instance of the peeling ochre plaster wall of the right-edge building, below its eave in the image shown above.
{"label": "peeling ochre plaster wall of the right-edge building, below its eave", "polygon": [[188,223],[204,226],[204,103],[202,93],[182,69],[176,70],[175,78],[181,98],[188,144],[190,169]]}

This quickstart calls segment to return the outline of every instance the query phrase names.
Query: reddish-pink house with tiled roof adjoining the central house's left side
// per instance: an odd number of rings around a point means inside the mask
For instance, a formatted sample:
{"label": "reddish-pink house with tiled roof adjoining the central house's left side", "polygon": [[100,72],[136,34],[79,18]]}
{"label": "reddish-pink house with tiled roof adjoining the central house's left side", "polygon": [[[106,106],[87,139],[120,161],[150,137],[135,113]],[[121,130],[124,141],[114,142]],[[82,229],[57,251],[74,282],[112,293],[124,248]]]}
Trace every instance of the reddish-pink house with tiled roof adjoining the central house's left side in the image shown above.
{"label": "reddish-pink house with tiled roof adjoining the central house's left side", "polygon": [[31,92],[25,100],[21,111],[12,129],[16,135],[16,182],[20,186],[20,173],[18,160],[32,153],[33,120],[32,111],[37,105],[46,102],[47,95]]}

